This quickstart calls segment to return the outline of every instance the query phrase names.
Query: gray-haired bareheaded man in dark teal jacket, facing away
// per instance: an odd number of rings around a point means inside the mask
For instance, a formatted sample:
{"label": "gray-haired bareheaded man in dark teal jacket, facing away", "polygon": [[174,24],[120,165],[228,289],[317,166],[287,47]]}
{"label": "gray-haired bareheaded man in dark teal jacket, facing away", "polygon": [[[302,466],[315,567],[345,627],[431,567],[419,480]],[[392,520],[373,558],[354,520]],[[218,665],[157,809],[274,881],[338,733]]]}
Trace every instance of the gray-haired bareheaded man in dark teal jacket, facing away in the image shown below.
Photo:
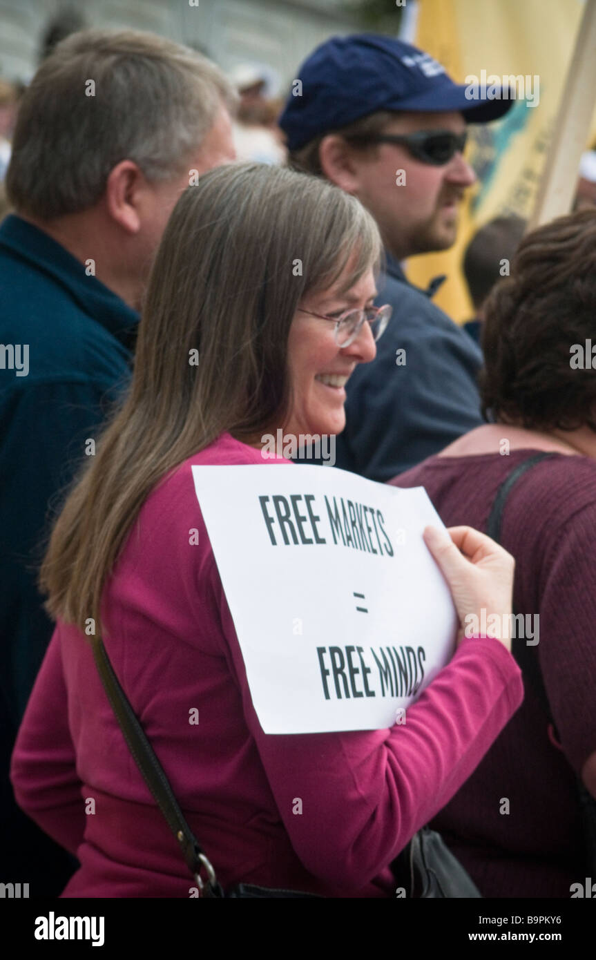
{"label": "gray-haired bareheaded man in dark teal jacket, facing away", "polygon": [[[49,508],[93,455],[128,379],[152,256],[180,192],[234,156],[235,100],[187,47],[96,30],[62,41],[23,97],[6,183],[15,215],[0,227],[3,772],[52,632],[36,590]],[[56,896],[70,867],[1,780],[2,879]]]}

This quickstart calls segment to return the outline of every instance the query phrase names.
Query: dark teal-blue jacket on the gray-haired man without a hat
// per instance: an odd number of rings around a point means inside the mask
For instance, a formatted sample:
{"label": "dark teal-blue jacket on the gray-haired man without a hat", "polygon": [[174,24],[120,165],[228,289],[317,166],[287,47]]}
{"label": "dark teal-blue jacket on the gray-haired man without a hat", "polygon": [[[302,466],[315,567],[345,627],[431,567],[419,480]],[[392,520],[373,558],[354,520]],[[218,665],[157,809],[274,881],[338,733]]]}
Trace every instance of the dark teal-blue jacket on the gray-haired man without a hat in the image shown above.
{"label": "dark teal-blue jacket on the gray-haired man without a hat", "polygon": [[[92,257],[92,238],[89,246]],[[7,792],[7,769],[53,629],[36,589],[37,568],[49,518],[85,458],[85,441],[97,439],[108,405],[130,376],[137,324],[138,315],[95,276],[86,276],[83,263],[46,233],[13,215],[2,223],[0,881],[35,883],[32,896],[42,892],[43,858],[38,846],[31,858],[27,854],[34,826]],[[20,351],[14,354],[16,346]],[[43,862],[51,884],[48,855]]]}

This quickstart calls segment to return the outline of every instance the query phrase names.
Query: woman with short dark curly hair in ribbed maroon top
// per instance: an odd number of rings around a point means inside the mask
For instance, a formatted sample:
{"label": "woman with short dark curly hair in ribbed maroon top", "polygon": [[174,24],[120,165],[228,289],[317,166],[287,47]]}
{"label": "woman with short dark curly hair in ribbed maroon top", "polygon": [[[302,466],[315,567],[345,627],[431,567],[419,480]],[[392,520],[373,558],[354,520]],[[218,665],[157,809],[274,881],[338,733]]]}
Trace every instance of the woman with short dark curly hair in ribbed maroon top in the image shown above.
{"label": "woman with short dark curly hair in ribbed maroon top", "polygon": [[492,422],[392,481],[425,487],[447,525],[486,530],[513,469],[551,454],[513,487],[501,542],[516,562],[514,628],[553,722],[526,681],[522,708],[434,821],[485,897],[569,897],[586,876],[577,778],[596,796],[595,317],[596,210],[584,209],[526,236],[489,297]]}

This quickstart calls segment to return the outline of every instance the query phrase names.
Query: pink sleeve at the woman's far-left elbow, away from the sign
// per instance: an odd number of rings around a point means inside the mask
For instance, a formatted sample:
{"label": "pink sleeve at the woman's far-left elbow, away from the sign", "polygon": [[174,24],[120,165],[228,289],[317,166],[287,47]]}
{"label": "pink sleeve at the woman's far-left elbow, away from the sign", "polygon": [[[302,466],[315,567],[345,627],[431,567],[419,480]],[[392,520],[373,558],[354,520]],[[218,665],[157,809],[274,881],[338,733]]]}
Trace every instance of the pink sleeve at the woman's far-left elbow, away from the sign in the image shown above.
{"label": "pink sleeve at the woman's far-left elbow, away from the sign", "polygon": [[16,803],[67,851],[83,843],[84,804],[68,727],[60,638],[54,631],[12,753]]}

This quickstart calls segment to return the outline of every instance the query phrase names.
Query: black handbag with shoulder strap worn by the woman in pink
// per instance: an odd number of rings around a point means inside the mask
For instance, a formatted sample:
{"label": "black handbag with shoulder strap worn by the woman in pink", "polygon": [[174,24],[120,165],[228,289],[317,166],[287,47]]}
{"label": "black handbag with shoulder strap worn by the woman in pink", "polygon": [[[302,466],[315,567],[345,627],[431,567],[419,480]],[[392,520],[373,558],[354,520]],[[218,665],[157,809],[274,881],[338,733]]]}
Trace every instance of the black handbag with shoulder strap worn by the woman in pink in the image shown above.
{"label": "black handbag with shoulder strap worn by the woman in pink", "polygon": [[[186,866],[195,878],[199,897],[226,900],[272,897],[322,900],[317,894],[260,887],[252,883],[238,883],[227,891],[223,889],[199,841],[186,823],[155,751],[116,677],[101,637],[90,636],[89,639],[107,699],[143,779],[179,842]],[[418,830],[391,866],[397,896],[403,896],[404,893],[406,897],[429,899],[482,896],[462,864],[447,849],[441,835],[428,827]],[[203,871],[205,879],[202,876]]]}

